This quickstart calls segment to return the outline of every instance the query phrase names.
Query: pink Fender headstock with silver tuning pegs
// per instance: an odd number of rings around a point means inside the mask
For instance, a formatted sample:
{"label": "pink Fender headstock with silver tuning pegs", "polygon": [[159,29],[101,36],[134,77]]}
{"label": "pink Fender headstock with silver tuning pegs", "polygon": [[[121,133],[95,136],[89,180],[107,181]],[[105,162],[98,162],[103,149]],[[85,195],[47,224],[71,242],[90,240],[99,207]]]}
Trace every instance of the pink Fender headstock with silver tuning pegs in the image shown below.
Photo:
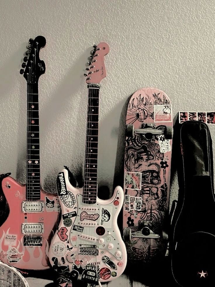
{"label": "pink Fender headstock with silver tuning pegs", "polygon": [[110,51],[110,47],[107,43],[101,42],[98,46],[94,45],[89,57],[89,62],[86,68],[87,74],[84,74],[87,84],[99,84],[103,78],[106,77],[104,56]]}

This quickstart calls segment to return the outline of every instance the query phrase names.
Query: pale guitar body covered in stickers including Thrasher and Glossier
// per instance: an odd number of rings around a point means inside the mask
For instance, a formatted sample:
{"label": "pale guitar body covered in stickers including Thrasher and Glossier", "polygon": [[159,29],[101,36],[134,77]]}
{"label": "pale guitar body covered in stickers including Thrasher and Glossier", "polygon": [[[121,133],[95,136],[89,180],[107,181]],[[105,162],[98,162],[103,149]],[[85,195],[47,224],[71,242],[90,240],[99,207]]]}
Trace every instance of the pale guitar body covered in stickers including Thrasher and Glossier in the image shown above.
{"label": "pale guitar body covered in stickers including Thrasher and Glossier", "polygon": [[109,200],[97,198],[94,204],[84,204],[83,188],[70,184],[66,169],[58,174],[57,182],[62,217],[49,251],[53,268],[91,282],[120,276],[126,266],[126,249],[117,226],[122,188],[116,187]]}

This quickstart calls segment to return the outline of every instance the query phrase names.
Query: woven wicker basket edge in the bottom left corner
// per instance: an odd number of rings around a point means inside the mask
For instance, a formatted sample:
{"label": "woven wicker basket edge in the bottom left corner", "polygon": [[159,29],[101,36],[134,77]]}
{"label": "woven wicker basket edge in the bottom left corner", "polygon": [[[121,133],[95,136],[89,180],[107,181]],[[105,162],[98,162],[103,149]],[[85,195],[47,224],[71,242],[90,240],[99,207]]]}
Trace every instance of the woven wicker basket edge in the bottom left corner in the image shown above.
{"label": "woven wicker basket edge in the bottom left corner", "polygon": [[0,261],[0,286],[1,287],[29,287],[25,278],[14,267]]}

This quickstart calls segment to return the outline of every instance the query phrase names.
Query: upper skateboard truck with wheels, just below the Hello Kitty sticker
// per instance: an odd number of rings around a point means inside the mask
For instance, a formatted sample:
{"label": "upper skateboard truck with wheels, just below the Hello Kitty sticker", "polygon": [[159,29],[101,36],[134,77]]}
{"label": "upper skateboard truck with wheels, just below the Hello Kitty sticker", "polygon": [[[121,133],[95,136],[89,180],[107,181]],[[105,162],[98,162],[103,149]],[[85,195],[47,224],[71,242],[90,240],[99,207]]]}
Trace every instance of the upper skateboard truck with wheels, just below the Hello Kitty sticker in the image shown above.
{"label": "upper skateboard truck with wheels, just below the Hello Kitty sticker", "polygon": [[150,140],[153,136],[164,135],[164,138],[171,140],[173,136],[173,129],[169,126],[160,126],[160,128],[151,128],[146,126],[145,128],[135,129],[133,125],[126,125],[126,135],[133,138],[134,134],[143,134],[145,138]]}

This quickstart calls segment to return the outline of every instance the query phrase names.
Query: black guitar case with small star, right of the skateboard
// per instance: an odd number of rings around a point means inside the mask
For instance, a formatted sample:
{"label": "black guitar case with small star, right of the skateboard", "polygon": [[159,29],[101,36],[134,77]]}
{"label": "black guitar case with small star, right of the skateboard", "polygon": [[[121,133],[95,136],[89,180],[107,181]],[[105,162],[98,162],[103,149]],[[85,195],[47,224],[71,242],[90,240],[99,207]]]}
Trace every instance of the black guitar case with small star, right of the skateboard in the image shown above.
{"label": "black guitar case with small star, right of the skateboard", "polygon": [[177,134],[179,192],[170,235],[172,274],[180,286],[215,286],[211,136],[208,126],[198,121],[180,124]]}

